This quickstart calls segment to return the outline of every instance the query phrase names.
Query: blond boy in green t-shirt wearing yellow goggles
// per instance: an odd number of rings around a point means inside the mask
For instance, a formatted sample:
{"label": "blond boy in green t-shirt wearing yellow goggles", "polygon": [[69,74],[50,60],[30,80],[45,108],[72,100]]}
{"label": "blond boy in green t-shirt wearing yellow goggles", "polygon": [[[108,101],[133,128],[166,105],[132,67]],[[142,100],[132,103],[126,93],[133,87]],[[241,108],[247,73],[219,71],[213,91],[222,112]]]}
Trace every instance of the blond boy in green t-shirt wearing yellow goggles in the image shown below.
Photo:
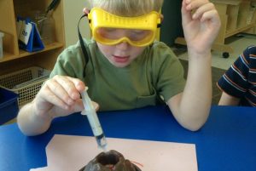
{"label": "blond boy in green t-shirt wearing yellow goggles", "polygon": [[[152,11],[160,11],[161,5],[162,0],[93,0],[90,24],[101,25],[101,13],[108,12],[121,20],[152,17],[147,21],[154,21],[156,28],[160,14],[155,19]],[[165,43],[153,42],[153,29],[132,24],[115,28],[112,23],[107,28],[91,26],[93,40],[85,41],[90,51],[85,69],[79,43],[64,50],[36,98],[20,109],[20,130],[26,135],[42,134],[53,118],[83,111],[80,92],[85,85],[100,111],[156,105],[161,97],[184,128],[201,128],[211,107],[211,46],[220,20],[208,0],[183,0],[182,18],[189,53],[187,83],[172,50]]]}

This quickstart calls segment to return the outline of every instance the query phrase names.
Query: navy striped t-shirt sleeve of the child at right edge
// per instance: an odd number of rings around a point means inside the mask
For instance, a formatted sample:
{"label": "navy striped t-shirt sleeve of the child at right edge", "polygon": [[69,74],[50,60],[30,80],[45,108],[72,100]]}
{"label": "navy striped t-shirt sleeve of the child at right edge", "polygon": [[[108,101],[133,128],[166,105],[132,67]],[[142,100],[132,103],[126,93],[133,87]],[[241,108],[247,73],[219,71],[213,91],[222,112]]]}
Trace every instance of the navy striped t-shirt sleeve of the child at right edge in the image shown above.
{"label": "navy striped t-shirt sleeve of the child at right edge", "polygon": [[248,48],[237,58],[232,66],[218,80],[217,86],[231,96],[242,98],[247,92],[250,54]]}

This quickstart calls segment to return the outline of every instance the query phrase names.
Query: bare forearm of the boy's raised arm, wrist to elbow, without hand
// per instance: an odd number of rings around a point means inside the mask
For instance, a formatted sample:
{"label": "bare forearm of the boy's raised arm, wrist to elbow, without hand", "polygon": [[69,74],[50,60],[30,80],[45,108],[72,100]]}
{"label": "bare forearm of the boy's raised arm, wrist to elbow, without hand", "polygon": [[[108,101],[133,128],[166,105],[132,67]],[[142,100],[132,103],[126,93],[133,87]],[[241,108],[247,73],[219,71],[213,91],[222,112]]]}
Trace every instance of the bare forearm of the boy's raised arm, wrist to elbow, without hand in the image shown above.
{"label": "bare forearm of the boy's raised arm, wrist to elbow, without hand", "polygon": [[[189,56],[191,57],[191,55]],[[184,128],[195,131],[206,123],[212,103],[210,55],[189,61],[187,83],[183,93],[168,100],[173,116]]]}

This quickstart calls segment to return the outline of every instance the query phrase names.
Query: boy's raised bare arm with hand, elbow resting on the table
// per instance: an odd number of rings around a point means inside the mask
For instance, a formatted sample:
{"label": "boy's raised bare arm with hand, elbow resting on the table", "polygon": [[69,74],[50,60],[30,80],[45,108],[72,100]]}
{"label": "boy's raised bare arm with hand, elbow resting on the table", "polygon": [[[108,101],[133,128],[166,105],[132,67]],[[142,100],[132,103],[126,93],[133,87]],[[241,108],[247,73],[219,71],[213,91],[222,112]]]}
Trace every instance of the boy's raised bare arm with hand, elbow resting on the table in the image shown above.
{"label": "boy's raised bare arm with hand, elbow resting on the table", "polygon": [[[191,10],[195,11],[191,14]],[[189,71],[182,94],[168,100],[177,122],[197,130],[207,121],[212,102],[211,46],[218,35],[218,12],[208,0],[183,0],[183,32]]]}

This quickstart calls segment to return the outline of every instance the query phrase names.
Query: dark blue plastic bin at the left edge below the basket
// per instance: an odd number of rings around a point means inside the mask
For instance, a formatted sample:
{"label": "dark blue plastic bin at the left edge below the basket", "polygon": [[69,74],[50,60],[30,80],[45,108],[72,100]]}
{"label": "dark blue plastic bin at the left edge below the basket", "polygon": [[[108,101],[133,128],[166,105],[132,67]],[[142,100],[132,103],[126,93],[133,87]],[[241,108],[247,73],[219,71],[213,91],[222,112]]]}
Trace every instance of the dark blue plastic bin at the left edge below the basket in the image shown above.
{"label": "dark blue plastic bin at the left edge below the basket", "polygon": [[18,94],[0,88],[0,125],[15,118],[19,111]]}

